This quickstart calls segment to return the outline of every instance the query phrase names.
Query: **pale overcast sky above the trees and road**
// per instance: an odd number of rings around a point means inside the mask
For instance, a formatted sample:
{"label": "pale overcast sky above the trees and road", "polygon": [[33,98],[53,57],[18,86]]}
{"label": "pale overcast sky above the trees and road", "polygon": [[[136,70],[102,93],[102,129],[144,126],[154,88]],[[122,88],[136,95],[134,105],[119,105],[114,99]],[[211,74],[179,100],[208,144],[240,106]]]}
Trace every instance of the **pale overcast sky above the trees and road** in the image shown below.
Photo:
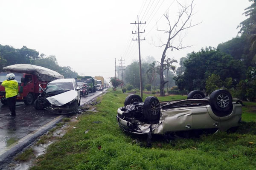
{"label": "pale overcast sky above the trees and road", "polygon": [[[189,4],[191,0],[178,0]],[[236,27],[245,19],[242,13],[248,0],[195,0],[192,23],[200,25],[186,31],[180,51],[169,51],[168,57],[179,60],[202,47],[217,47],[236,37]],[[132,41],[139,20],[145,41],[141,56],[160,61],[167,28],[164,13],[171,22],[177,20],[178,4],[174,0],[0,0],[0,44],[21,48],[26,45],[40,54],[55,55],[58,64],[91,76],[114,76],[115,58],[125,65],[138,59],[138,43]],[[157,24],[156,24],[157,23]]]}

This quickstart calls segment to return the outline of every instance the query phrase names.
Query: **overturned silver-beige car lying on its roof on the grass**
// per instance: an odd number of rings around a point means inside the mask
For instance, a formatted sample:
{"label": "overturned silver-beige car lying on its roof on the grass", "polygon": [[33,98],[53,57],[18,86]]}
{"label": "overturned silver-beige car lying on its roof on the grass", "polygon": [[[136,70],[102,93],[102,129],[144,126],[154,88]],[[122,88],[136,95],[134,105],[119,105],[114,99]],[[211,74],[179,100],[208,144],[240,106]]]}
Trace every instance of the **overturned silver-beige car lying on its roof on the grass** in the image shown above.
{"label": "overturned silver-beige car lying on its roof on the grass", "polygon": [[125,99],[125,106],[118,108],[116,119],[122,130],[138,134],[234,131],[241,122],[241,107],[241,101],[233,102],[226,90],[216,90],[210,97],[192,91],[188,99],[167,102],[159,102],[155,96],[143,102],[132,94]]}

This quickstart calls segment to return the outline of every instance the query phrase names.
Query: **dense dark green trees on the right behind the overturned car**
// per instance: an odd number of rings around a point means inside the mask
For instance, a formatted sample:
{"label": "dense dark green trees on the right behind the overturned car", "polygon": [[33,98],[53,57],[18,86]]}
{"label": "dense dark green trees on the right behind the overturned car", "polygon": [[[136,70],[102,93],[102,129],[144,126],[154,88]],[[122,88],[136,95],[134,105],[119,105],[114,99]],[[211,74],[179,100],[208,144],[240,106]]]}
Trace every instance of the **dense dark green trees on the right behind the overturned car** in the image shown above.
{"label": "dense dark green trees on the right behind the overturned car", "polygon": [[180,90],[205,90],[207,94],[226,88],[240,99],[256,98],[256,0],[249,0],[236,37],[220,43],[217,48],[206,47],[183,58],[186,67],[174,77]]}

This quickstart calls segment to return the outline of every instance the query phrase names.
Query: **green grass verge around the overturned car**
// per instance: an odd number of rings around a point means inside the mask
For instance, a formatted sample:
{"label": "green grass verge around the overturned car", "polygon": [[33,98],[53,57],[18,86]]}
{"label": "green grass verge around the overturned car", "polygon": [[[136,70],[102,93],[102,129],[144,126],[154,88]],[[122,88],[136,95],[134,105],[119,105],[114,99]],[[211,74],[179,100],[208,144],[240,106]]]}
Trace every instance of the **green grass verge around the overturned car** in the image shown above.
{"label": "green grass verge around the overturned car", "polygon": [[[125,133],[116,122],[116,110],[123,106],[126,96],[122,91],[109,91],[102,96],[96,105],[98,112],[79,116],[76,128],[71,127],[60,142],[51,144],[31,169],[255,170],[256,123],[247,116],[253,114],[250,109],[243,115],[246,122],[242,122],[237,133],[218,132],[171,142],[153,136],[152,148],[145,148],[146,136]],[[186,96],[158,98],[166,101]],[[245,102],[247,106],[254,104]],[[92,123],[95,121],[102,123]],[[86,130],[88,133],[84,133]]]}

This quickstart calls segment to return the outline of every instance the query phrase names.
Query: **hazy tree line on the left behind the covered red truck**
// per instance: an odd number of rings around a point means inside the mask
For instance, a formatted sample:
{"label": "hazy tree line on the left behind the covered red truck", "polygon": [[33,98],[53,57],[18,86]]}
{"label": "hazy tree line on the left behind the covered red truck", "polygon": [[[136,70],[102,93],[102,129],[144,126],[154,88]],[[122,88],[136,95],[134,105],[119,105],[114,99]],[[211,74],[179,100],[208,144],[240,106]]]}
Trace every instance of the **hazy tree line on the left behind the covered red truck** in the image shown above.
{"label": "hazy tree line on the left behind the covered red truck", "polygon": [[76,71],[73,71],[70,66],[58,65],[57,59],[54,55],[46,56],[40,54],[35,49],[27,48],[13,48],[9,45],[0,45],[0,72],[3,71],[3,67],[14,64],[33,64],[49,68],[57,71],[65,78],[76,78],[78,76]]}

